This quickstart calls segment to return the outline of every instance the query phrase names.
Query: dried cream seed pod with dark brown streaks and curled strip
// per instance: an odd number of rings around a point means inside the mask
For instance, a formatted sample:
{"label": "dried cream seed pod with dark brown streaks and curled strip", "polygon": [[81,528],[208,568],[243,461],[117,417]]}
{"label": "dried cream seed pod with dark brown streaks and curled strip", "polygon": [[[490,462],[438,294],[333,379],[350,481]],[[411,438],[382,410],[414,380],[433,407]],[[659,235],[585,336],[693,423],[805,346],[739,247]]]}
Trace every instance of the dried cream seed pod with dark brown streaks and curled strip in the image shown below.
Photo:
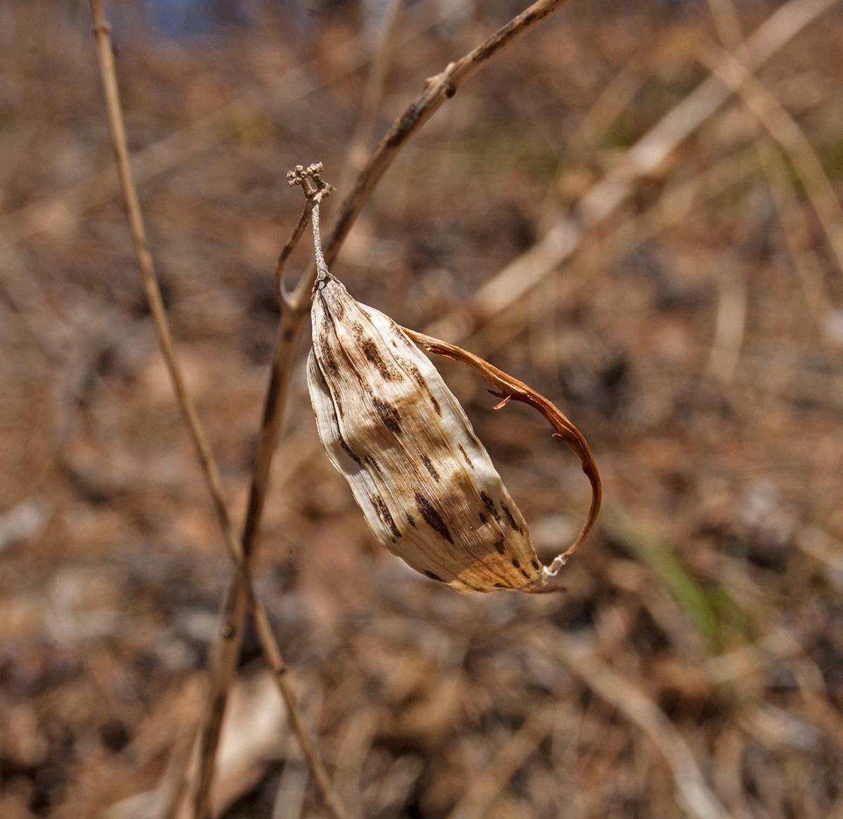
{"label": "dried cream seed pod with dark brown streaks and curled strip", "polygon": [[328,272],[319,246],[318,202],[312,218],[318,276],[311,306],[310,400],[325,452],[352,488],[373,535],[416,571],[461,594],[558,590],[556,573],[599,511],[599,476],[583,436],[521,382],[470,353],[459,351],[461,357],[454,352],[459,348],[418,337],[433,352],[466,361],[487,380],[491,374],[502,403],[529,401],[545,417],[552,415],[551,423],[583,460],[593,486],[588,523],[574,546],[544,567],[524,517],[459,401],[413,343],[411,331],[357,302]]}

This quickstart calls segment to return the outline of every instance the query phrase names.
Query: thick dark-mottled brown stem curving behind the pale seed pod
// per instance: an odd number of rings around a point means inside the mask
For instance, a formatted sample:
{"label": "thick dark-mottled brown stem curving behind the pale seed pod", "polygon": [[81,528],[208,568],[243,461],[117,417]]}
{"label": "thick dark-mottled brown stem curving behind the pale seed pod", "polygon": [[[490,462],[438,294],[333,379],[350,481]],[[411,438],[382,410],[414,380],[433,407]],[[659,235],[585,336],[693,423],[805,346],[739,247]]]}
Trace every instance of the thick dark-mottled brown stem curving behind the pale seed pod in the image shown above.
{"label": "thick dark-mottled brown stem curving behind the pale seed pod", "polygon": [[[430,78],[425,89],[399,117],[393,127],[381,141],[371,159],[357,176],[352,191],[341,202],[339,217],[330,233],[330,240],[325,246],[325,261],[330,265],[336,260],[342,243],[352,228],[363,205],[368,202],[374,187],[380,181],[389,165],[395,160],[400,149],[431,116],[456,93],[459,85],[478,72],[492,57],[497,57],[507,46],[519,40],[550,14],[557,11],[568,0],[538,0],[523,13],[510,20],[502,29],[470,51],[462,59],[452,62],[442,73]],[[276,450],[278,431],[287,396],[290,378],[293,373],[293,360],[298,349],[303,326],[309,315],[310,293],[316,278],[316,267],[311,265],[308,272],[298,282],[290,294],[282,294],[281,321],[278,326],[275,350],[272,355],[269,385],[266,390],[263,418],[255,456],[255,473],[252,477],[249,506],[243,531],[243,555],[247,567],[255,560],[255,551],[260,533],[260,519],[266,502],[266,492],[272,458]],[[234,589],[228,596],[225,606],[225,645],[228,648],[224,662],[219,665],[217,674],[221,681],[234,673],[242,641],[246,615],[247,587],[235,578]],[[222,724],[225,709],[224,685],[215,686],[220,692],[218,707],[210,715],[211,723],[204,731],[209,739],[216,737],[212,746],[216,754],[216,742],[219,738],[219,725]],[[216,727],[215,727],[216,726]],[[207,778],[207,773],[205,774]],[[210,779],[207,779],[210,782]],[[202,817],[200,817],[202,819]]]}

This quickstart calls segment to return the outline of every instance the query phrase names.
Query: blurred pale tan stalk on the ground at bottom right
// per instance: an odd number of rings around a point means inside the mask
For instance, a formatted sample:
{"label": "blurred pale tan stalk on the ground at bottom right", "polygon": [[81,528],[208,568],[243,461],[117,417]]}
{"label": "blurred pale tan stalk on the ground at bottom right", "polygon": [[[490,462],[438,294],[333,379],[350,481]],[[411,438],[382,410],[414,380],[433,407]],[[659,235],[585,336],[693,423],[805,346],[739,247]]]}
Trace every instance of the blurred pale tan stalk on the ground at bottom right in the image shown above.
{"label": "blurred pale tan stalk on the ground at bottom right", "polygon": [[697,819],[732,819],[706,783],[688,744],[663,710],[625,676],[609,668],[588,646],[559,629],[531,636],[537,650],[557,657],[607,703],[649,736],[674,776],[680,805]]}

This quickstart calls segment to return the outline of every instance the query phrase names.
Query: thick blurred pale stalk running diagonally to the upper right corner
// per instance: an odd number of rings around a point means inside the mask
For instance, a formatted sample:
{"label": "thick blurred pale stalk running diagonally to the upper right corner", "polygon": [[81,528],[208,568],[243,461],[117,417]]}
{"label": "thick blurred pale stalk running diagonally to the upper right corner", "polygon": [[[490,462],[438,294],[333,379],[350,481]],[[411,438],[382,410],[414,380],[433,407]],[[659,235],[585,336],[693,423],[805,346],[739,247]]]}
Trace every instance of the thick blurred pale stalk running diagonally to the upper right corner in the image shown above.
{"label": "thick blurred pale stalk running diagonally to the upper right corner", "polygon": [[[756,70],[836,0],[789,0],[765,20],[738,51],[749,70]],[[628,197],[636,180],[658,168],[685,137],[708,119],[731,95],[717,77],[706,79],[662,117],[626,153],[603,180],[579,202],[577,213],[561,219],[545,237],[492,277],[463,307],[428,327],[436,337],[459,342],[477,326],[526,294],[581,244],[583,231],[604,222]]]}

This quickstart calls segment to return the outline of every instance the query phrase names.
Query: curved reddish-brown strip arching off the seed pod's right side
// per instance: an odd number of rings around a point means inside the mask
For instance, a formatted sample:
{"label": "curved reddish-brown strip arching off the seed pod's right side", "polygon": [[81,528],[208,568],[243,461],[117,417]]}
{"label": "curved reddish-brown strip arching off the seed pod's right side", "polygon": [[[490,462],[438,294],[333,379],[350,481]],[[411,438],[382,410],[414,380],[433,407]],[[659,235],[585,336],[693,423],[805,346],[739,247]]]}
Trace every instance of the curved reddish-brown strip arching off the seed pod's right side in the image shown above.
{"label": "curved reddish-brown strip arching off the seed pod's right side", "polygon": [[583,530],[580,531],[577,540],[573,543],[572,547],[556,558],[548,567],[550,574],[553,574],[558,568],[564,566],[567,559],[577,551],[577,548],[588,536],[588,532],[592,530],[593,525],[597,522],[597,517],[600,514],[603,488],[600,483],[597,464],[594,462],[594,457],[588,448],[586,439],[583,438],[583,434],[544,396],[540,396],[538,392],[531,389],[522,381],[497,369],[497,367],[484,361],[480,356],[469,353],[467,350],[454,346],[454,344],[440,341],[438,338],[426,336],[424,333],[408,330],[406,327],[402,327],[402,329],[416,344],[425,348],[428,352],[436,353],[445,358],[453,358],[454,361],[467,364],[481,378],[496,387],[498,392],[492,393],[492,395],[502,399],[496,409],[505,406],[508,401],[521,401],[538,410],[545,417],[545,420],[550,423],[550,426],[556,429],[553,437],[564,440],[571,447],[573,453],[577,455],[577,458],[580,459],[580,463],[583,465],[583,472],[588,477],[588,482],[591,483],[591,505],[588,508],[588,517],[586,518],[585,525],[583,525]]}

